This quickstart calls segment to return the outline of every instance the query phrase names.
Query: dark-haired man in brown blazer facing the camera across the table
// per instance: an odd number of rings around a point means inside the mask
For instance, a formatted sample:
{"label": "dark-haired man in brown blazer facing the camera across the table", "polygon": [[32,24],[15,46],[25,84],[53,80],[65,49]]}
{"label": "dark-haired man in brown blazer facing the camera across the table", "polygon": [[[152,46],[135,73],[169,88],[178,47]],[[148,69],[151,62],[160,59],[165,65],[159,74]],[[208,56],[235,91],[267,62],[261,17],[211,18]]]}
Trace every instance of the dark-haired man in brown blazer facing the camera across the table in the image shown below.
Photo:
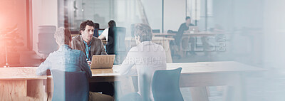
{"label": "dark-haired man in brown blazer facing the camera across the table", "polygon": [[[72,38],[71,48],[81,50],[86,55],[88,65],[91,65],[93,55],[107,55],[102,41],[93,36],[95,24],[93,21],[83,21],[80,25],[81,35]],[[90,83],[90,91],[102,92],[113,96],[114,87],[111,83]]]}

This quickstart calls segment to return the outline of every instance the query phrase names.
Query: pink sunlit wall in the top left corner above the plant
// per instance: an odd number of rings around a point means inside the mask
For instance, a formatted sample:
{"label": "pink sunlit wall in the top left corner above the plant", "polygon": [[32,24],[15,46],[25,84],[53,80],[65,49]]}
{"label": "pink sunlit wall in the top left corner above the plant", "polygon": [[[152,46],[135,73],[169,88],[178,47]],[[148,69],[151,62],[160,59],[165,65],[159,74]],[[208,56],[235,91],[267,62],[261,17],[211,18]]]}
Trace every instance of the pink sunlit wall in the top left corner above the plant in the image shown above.
{"label": "pink sunlit wall in the top left corner above the plant", "polygon": [[[26,0],[1,0],[0,12],[0,32],[16,26],[20,37],[17,42],[24,43],[26,47]],[[0,40],[0,43],[3,43],[3,40]]]}

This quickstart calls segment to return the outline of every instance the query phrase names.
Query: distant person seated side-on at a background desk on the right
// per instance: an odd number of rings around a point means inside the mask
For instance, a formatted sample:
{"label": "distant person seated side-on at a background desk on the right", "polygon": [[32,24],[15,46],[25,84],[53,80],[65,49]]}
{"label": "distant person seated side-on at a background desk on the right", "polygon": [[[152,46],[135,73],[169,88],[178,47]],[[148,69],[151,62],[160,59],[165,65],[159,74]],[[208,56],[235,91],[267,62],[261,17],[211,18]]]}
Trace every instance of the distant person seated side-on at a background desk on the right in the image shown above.
{"label": "distant person seated side-on at a background desk on the right", "polygon": [[[184,33],[184,31],[189,30],[189,26],[194,26],[194,24],[191,23],[190,16],[187,16],[185,18],[185,23],[182,23],[180,25],[177,34],[174,36],[175,43],[176,43],[176,45],[178,46],[179,49],[180,49],[180,47],[182,47],[182,46],[180,46],[180,43],[182,42],[183,33]],[[190,37],[190,42],[191,42],[191,51],[190,51],[190,53],[195,55],[196,54],[195,51],[194,51],[195,38]],[[186,43],[188,43],[188,42],[186,42]]]}

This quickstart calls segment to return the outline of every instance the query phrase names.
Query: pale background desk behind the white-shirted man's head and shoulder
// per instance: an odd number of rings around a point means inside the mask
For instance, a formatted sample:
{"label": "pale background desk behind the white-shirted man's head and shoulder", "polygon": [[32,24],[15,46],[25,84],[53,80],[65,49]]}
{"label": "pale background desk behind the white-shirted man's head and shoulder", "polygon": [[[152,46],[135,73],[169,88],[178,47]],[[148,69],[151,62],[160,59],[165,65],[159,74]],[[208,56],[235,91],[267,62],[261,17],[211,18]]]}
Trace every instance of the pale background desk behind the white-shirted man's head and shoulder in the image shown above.
{"label": "pale background desk behind the white-shirted man's head and shoulder", "polygon": [[[174,41],[174,38],[165,38],[165,37],[152,37],[152,42],[161,45],[165,49],[166,53],[166,62],[172,63],[172,56],[170,50],[170,41]],[[137,46],[135,43],[135,38],[126,37],[125,45],[127,47]]]}

